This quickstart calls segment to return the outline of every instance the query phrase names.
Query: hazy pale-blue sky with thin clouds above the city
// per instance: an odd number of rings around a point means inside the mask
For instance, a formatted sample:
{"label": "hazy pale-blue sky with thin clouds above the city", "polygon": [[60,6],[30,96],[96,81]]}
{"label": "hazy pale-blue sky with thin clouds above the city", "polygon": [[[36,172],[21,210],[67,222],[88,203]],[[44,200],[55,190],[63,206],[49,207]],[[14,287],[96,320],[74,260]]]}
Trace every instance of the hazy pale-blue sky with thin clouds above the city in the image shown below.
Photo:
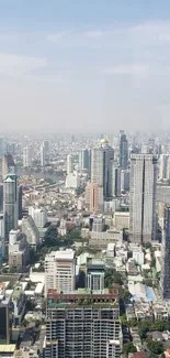
{"label": "hazy pale-blue sky with thin clouds above the city", "polygon": [[0,0],[0,129],[170,129],[169,0]]}

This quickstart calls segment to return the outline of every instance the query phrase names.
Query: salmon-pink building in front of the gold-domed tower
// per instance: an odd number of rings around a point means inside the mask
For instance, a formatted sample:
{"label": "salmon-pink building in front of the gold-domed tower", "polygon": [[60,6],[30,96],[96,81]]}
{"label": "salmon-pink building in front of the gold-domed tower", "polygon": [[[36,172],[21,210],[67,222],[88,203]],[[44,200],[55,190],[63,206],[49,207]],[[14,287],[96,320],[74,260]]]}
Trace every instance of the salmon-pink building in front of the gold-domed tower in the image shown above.
{"label": "salmon-pink building in front of the gold-domed tower", "polygon": [[86,204],[90,213],[103,211],[103,187],[89,183],[86,187]]}

